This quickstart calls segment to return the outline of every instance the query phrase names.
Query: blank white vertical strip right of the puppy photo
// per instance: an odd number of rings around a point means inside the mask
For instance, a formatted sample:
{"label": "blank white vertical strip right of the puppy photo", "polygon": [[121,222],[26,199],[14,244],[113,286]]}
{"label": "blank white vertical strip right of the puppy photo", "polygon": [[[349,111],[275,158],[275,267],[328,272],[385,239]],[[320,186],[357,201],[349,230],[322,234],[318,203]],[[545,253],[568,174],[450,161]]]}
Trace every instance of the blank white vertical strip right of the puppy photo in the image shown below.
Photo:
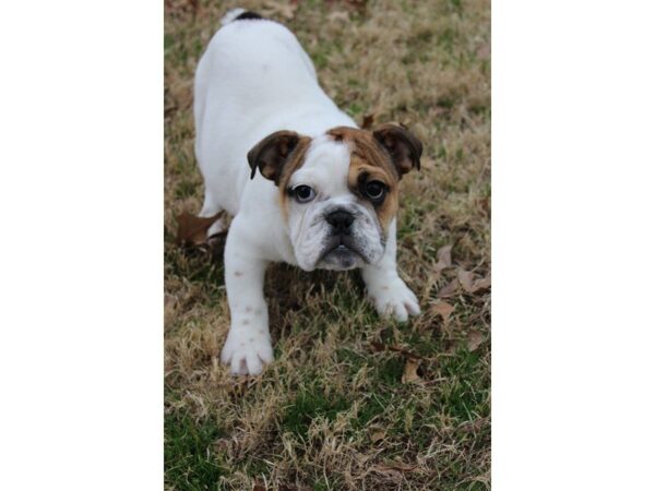
{"label": "blank white vertical strip right of the puppy photo", "polygon": [[492,19],[493,488],[646,489],[655,8]]}

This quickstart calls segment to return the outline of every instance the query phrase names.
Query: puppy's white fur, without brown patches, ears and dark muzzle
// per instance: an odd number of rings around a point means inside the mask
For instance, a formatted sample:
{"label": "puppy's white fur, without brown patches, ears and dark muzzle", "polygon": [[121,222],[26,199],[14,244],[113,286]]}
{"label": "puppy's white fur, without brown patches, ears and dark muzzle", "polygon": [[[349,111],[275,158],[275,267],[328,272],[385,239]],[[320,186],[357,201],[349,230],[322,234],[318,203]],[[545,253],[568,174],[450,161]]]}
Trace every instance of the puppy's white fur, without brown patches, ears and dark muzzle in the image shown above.
{"label": "puppy's white fur, without brown patches, ears and dark muzzle", "polygon": [[[320,260],[327,209],[341,206],[356,216],[353,236],[361,258],[348,267],[362,267],[377,310],[404,321],[419,309],[396,272],[395,220],[384,238],[372,207],[348,191],[350,149],[322,136],[331,128],[356,128],[355,122],[321,89],[311,60],[286,27],[265,20],[229,22],[228,16],[224,22],[195,75],[195,154],[205,183],[201,215],[226,211],[235,217],[225,247],[231,326],[222,360],[233,373],[257,374],[273,359],[263,297],[267,263],[343,268]],[[307,204],[289,200],[288,225],[277,188],[259,172],[250,180],[246,158],[278,130],[313,139],[291,183],[310,184],[318,195]],[[215,224],[210,233],[222,227]]]}

